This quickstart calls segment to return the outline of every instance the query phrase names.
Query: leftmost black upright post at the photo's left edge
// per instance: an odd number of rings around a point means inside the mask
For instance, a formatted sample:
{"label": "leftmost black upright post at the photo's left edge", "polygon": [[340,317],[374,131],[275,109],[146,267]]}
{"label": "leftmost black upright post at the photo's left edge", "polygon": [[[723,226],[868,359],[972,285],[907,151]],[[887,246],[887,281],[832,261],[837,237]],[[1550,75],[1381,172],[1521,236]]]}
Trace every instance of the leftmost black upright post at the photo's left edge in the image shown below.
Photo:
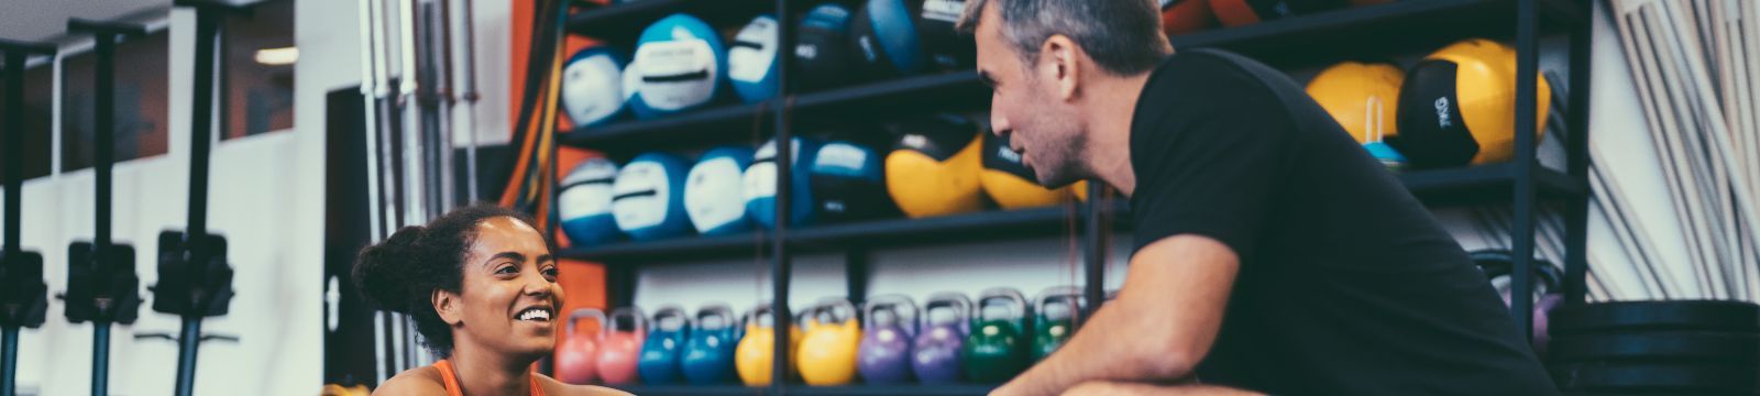
{"label": "leftmost black upright post at the photo's left edge", "polygon": [[[35,42],[16,42],[0,39],[0,51],[5,53],[5,246],[0,248],[0,266],[9,271],[0,271],[7,276],[25,276],[23,271],[23,248],[19,243],[21,232],[21,202],[23,185],[25,185],[25,63],[32,55],[55,56],[55,46],[35,44]],[[37,262],[33,276],[37,280],[25,280],[40,283],[40,262]],[[11,282],[7,282],[11,285]],[[12,292],[12,290],[9,290]],[[46,299],[48,296],[26,296],[30,299]],[[0,322],[0,396],[12,396],[18,387],[18,331],[19,327],[37,327],[40,320],[30,319],[32,306],[40,301],[5,301],[5,303],[25,303],[23,319],[16,319],[18,312],[5,312],[4,322]],[[11,310],[11,308],[9,308]]]}

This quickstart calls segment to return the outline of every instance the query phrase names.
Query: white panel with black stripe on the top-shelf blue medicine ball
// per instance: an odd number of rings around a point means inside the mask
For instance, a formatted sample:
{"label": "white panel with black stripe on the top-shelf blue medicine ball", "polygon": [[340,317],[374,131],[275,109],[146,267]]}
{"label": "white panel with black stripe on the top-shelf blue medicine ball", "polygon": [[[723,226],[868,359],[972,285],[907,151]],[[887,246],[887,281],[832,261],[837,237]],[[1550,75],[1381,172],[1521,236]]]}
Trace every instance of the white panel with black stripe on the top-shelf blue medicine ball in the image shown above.
{"label": "white panel with black stripe on the top-shelf blue medicine ball", "polygon": [[715,51],[702,39],[648,42],[635,49],[635,93],[648,107],[678,111],[708,102],[715,93]]}

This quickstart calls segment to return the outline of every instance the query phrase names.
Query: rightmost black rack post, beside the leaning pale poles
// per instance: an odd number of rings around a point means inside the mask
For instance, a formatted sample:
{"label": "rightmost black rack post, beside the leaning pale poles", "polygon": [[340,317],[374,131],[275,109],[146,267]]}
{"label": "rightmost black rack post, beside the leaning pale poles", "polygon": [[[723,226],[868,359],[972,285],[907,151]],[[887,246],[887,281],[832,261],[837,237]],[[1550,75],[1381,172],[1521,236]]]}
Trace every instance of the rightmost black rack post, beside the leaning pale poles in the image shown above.
{"label": "rightmost black rack post, beside the leaning pale poles", "polygon": [[[1586,18],[1595,18],[1595,5],[1586,4]],[[1589,72],[1593,70],[1593,19],[1577,19],[1570,30],[1570,102],[1565,136],[1570,180],[1589,180]],[[1565,303],[1584,303],[1589,273],[1589,190],[1570,199],[1565,213]]]}

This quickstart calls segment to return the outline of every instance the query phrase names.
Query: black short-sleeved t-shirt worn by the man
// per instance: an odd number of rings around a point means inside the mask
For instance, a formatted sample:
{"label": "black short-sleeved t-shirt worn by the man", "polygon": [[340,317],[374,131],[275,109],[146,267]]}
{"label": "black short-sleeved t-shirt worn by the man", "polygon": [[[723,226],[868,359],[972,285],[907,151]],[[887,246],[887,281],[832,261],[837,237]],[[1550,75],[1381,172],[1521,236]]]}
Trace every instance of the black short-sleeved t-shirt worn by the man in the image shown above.
{"label": "black short-sleeved t-shirt worn by the man", "polygon": [[1169,56],[1137,102],[1130,160],[1139,250],[1199,234],[1241,257],[1200,382],[1558,392],[1461,246],[1281,72],[1221,51]]}

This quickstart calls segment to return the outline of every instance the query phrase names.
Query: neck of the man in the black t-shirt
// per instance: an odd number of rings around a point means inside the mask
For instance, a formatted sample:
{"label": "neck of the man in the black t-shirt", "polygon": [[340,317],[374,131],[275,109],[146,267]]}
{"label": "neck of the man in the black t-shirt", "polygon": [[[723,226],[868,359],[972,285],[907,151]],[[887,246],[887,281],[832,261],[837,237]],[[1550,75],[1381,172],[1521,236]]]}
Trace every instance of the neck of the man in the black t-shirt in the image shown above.
{"label": "neck of the man in the black t-shirt", "polygon": [[1137,174],[1130,169],[1130,123],[1137,114],[1137,99],[1149,83],[1149,72],[1130,77],[1096,79],[1088,114],[1088,167],[1107,185],[1126,197],[1137,190]]}

